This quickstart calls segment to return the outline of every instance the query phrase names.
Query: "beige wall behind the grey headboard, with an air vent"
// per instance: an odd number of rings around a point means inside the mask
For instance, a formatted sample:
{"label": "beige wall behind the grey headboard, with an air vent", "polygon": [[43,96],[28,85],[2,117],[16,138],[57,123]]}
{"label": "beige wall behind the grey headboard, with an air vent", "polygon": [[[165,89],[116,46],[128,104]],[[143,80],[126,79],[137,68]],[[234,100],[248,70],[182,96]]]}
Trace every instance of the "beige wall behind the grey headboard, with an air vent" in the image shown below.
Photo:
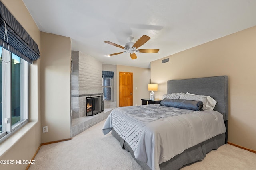
{"label": "beige wall behind the grey headboard, with an air vent", "polygon": [[256,26],[170,55],[169,63],[151,62],[151,80],[160,84],[156,96],[166,94],[170,79],[227,75],[228,141],[256,150],[255,35]]}

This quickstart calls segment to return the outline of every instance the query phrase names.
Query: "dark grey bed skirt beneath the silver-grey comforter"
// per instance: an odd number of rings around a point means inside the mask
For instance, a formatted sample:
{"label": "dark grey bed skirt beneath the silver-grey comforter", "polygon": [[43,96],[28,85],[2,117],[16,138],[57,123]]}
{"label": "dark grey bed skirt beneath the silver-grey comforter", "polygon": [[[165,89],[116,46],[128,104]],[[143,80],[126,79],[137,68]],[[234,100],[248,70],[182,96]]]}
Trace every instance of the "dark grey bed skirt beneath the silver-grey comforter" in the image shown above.
{"label": "dark grey bed skirt beneath the silver-grey comforter", "polygon": [[[126,141],[124,141],[124,139],[122,139],[116,133],[114,129],[112,129],[112,135],[120,142],[120,145],[123,149],[126,149],[128,152],[131,153],[132,157],[136,160],[136,162],[138,162],[138,164],[144,170],[150,170],[150,168],[146,163],[141,162],[135,158],[132,148],[128,145],[128,143],[126,143]],[[222,133],[220,135],[217,135],[215,137],[208,139],[207,141],[199,143],[194,147],[184,150],[184,152],[174,156],[172,159],[168,160],[167,162],[163,162],[162,164],[160,164],[160,170],[178,170],[186,164],[190,164],[192,162],[196,162],[198,160],[204,159],[204,157],[208,152],[210,152],[211,150],[218,149],[218,147],[220,147],[221,145],[224,145],[224,143],[225,143],[225,133]]]}

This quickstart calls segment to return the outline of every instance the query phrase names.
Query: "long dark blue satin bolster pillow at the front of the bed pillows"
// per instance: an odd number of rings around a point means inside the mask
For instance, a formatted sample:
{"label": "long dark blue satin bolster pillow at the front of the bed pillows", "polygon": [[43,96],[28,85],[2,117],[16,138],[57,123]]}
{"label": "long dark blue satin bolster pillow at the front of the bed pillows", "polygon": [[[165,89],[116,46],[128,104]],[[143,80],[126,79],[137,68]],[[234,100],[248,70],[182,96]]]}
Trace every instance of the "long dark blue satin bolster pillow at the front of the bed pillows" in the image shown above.
{"label": "long dark blue satin bolster pillow at the front of the bed pillows", "polygon": [[195,101],[195,100],[163,99],[160,102],[160,106],[175,107],[175,108],[195,110],[195,111],[203,110],[203,102]]}

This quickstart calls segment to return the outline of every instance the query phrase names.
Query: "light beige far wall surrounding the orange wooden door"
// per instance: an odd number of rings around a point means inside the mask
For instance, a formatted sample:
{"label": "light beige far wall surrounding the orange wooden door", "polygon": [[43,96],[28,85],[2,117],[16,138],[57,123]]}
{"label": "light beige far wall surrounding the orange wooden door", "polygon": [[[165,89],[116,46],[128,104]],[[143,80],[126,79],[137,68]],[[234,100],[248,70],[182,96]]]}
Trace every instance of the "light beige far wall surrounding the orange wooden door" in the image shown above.
{"label": "light beige far wall surrounding the orange wooden door", "polygon": [[[119,72],[133,73],[133,105],[141,105],[142,98],[149,98],[150,69],[131,66],[116,66],[116,106],[119,107]],[[151,81],[152,82],[152,81]],[[153,83],[153,82],[152,82]],[[137,90],[136,90],[137,87]]]}

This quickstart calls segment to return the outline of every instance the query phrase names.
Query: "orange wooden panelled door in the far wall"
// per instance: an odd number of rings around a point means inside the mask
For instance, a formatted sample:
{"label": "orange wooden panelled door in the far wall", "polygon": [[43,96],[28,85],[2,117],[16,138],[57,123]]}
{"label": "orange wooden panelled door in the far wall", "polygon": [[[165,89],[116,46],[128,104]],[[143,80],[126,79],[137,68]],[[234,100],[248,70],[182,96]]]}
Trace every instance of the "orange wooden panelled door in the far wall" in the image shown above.
{"label": "orange wooden panelled door in the far wall", "polygon": [[132,72],[119,72],[119,107],[133,105]]}

